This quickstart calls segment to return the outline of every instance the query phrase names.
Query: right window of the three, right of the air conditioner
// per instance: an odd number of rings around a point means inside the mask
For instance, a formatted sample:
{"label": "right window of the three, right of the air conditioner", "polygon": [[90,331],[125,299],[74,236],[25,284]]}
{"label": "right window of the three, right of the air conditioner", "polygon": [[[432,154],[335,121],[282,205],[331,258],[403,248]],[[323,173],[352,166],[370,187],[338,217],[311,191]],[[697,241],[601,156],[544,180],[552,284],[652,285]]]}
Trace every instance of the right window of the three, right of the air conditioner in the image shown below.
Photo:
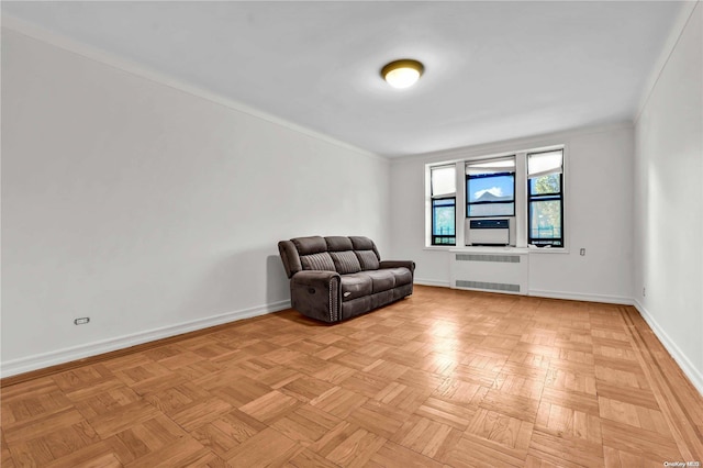
{"label": "right window of the three, right of the air conditioner", "polygon": [[527,154],[527,243],[563,247],[563,151]]}

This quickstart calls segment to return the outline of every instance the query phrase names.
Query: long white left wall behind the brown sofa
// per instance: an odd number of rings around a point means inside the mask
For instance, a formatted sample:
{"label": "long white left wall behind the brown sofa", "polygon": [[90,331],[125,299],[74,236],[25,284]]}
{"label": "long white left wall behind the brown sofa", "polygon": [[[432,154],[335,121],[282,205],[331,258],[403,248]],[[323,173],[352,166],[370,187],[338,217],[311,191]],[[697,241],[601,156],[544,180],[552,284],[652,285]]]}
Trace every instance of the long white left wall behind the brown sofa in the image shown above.
{"label": "long white left wall behind the brown sofa", "polygon": [[286,308],[279,239],[388,249],[387,159],[137,75],[3,27],[3,376]]}

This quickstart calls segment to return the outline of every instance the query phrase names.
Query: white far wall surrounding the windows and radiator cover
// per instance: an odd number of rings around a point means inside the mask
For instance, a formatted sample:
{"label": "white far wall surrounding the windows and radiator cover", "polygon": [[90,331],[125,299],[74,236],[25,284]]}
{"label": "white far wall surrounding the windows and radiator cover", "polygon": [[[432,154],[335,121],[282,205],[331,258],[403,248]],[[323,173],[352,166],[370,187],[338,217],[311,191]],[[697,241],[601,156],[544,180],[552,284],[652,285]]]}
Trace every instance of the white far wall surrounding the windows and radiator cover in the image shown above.
{"label": "white far wall surrounding the windows and radiator cover", "polygon": [[531,254],[529,293],[632,303],[634,142],[627,124],[393,160],[392,256],[414,259],[419,282],[449,286],[447,249],[424,247],[425,164],[556,144],[566,144],[568,253]]}

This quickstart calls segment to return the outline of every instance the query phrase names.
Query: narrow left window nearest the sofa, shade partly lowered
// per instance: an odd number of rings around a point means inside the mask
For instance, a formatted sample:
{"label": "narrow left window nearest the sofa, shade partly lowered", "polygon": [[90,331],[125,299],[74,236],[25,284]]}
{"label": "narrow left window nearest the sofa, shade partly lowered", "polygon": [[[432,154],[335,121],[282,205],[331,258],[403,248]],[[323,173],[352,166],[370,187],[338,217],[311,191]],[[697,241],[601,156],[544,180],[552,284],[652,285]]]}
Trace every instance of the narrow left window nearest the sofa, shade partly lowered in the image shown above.
{"label": "narrow left window nearest the sofa, shade partly lowered", "polygon": [[432,245],[456,245],[457,197],[456,168],[431,169]]}

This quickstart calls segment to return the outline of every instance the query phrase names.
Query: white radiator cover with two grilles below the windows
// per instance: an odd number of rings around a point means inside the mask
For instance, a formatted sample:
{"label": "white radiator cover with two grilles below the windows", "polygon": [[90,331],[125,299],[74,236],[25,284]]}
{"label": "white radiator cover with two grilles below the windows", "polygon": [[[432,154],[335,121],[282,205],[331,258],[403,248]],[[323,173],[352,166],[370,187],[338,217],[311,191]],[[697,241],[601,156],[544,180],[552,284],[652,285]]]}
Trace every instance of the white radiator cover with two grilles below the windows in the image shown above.
{"label": "white radiator cover with two grilles below the windows", "polygon": [[526,252],[450,250],[449,258],[450,281],[455,289],[527,294],[529,255]]}

